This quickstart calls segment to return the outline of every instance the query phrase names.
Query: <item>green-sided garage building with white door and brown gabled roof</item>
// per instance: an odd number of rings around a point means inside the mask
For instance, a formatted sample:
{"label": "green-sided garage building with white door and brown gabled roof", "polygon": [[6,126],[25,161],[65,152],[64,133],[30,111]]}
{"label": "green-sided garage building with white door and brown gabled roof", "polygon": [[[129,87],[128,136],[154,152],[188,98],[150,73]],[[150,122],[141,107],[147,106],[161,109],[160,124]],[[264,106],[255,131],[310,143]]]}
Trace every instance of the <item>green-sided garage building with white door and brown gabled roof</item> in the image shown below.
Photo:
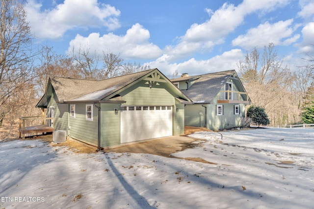
{"label": "green-sided garage building with white door and brown gabled roof", "polygon": [[192,101],[159,70],[105,80],[49,79],[37,104],[55,130],[101,147],[184,134],[184,105]]}

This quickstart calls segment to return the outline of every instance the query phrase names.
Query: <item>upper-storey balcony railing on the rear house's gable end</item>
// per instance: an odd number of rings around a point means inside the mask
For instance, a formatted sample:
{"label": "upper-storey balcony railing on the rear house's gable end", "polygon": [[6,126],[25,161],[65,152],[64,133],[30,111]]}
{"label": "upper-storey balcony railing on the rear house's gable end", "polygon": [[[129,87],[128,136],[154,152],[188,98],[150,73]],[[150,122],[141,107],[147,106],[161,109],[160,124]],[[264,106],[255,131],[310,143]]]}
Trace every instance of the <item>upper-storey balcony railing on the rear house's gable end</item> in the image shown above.
{"label": "upper-storey balcony railing on the rear house's gable end", "polygon": [[249,96],[246,92],[220,91],[218,93],[218,103],[249,103]]}

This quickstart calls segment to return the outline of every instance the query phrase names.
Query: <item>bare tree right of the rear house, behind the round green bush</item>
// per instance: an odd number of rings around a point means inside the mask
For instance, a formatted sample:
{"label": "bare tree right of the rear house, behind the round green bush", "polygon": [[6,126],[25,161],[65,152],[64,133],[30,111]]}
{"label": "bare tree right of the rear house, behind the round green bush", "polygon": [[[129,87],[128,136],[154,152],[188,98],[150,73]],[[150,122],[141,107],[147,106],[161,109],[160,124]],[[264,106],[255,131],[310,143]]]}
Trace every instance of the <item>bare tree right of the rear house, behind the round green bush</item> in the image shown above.
{"label": "bare tree right of the rear house, behind the round green bush", "polygon": [[290,108],[286,101],[291,76],[288,67],[278,59],[274,45],[264,46],[262,55],[255,47],[237,66],[253,104],[265,108],[272,124],[284,122]]}

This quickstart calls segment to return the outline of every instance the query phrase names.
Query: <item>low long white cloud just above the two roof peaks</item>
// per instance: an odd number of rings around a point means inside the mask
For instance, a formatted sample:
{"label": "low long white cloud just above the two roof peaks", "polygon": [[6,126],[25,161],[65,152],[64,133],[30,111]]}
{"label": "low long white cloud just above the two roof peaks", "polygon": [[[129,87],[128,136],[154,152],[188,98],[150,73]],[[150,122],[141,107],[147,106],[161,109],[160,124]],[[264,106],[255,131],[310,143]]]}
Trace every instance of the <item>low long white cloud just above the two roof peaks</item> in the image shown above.
{"label": "low long white cloud just above the two roof peaks", "polygon": [[156,61],[146,63],[146,65],[162,70],[167,76],[172,75],[175,70],[178,70],[179,74],[198,75],[223,70],[236,70],[236,63],[243,59],[243,56],[241,49],[232,49],[208,60],[191,58],[183,63],[170,63],[170,57],[167,54],[163,54]]}

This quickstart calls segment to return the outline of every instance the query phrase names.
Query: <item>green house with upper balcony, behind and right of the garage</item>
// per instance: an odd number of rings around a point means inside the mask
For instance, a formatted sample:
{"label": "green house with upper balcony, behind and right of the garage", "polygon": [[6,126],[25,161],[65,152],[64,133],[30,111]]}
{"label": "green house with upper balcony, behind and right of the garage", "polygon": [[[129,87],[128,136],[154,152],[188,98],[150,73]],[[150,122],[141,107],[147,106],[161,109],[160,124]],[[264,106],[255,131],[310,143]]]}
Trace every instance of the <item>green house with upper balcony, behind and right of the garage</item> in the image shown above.
{"label": "green house with upper balcony, behind and right of the garage", "polygon": [[187,126],[220,130],[239,127],[251,104],[235,70],[203,75],[183,74],[171,81],[192,101],[184,110]]}

